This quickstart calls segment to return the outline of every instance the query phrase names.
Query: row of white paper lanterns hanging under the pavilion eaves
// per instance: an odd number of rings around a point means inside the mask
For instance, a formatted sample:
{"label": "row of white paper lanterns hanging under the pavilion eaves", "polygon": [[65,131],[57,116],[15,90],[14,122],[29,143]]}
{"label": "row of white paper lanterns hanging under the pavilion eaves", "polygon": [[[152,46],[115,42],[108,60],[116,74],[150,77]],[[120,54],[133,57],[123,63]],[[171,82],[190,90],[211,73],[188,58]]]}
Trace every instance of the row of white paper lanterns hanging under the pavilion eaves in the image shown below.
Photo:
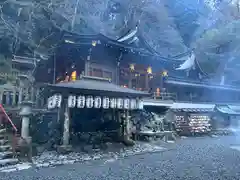
{"label": "row of white paper lanterns hanging under the pavilion eaves", "polygon": [[[62,96],[59,94],[48,98],[48,109],[60,108]],[[103,108],[103,109],[142,109],[140,99],[109,98],[100,96],[75,96],[69,95],[67,100],[69,108]]]}

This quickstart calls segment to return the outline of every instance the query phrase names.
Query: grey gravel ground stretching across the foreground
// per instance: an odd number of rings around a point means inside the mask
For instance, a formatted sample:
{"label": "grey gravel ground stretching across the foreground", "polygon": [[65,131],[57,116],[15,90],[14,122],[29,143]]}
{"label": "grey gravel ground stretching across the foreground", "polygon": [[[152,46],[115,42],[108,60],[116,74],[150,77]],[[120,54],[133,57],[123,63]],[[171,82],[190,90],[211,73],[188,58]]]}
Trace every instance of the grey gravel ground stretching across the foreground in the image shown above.
{"label": "grey gravel ground stretching across the foreground", "polygon": [[240,179],[240,136],[184,138],[169,151],[0,173],[0,180]]}

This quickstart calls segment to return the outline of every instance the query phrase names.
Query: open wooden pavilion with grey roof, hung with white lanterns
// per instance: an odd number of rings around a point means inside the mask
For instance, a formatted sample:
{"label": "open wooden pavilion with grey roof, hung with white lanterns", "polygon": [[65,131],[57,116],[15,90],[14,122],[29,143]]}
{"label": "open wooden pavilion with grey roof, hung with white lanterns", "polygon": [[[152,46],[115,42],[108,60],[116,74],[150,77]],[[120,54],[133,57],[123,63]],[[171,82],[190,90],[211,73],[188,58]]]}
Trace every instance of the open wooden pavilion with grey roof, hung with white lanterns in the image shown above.
{"label": "open wooden pavilion with grey roof, hung with white lanterns", "polygon": [[131,141],[130,112],[142,109],[148,93],[119,87],[109,80],[81,80],[49,85],[48,109],[58,109],[62,147]]}

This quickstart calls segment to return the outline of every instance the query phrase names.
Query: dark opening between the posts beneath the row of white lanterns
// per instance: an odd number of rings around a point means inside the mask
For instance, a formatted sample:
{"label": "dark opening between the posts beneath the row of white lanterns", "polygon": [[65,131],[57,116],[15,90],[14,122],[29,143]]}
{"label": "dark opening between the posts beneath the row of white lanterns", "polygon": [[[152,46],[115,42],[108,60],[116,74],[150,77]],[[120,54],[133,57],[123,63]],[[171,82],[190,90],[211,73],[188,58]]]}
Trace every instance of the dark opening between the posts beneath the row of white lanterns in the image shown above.
{"label": "dark opening between the posts beneath the row of white lanterns", "polygon": [[121,141],[121,121],[116,116],[116,111],[112,109],[70,109],[70,144],[92,144],[94,148],[98,148],[107,142]]}

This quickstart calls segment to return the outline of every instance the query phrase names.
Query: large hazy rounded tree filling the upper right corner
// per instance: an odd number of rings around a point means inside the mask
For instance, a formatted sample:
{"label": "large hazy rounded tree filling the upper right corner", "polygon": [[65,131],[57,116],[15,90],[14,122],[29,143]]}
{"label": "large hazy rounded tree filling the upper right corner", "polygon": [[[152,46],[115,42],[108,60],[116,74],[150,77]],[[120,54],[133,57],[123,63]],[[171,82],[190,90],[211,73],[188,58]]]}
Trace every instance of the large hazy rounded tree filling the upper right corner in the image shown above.
{"label": "large hazy rounded tree filling the upper right corner", "polygon": [[240,55],[239,7],[239,1],[221,2],[205,18],[206,23],[201,24],[192,42],[200,67],[209,75],[221,77],[231,69],[229,79],[237,78],[234,71]]}

